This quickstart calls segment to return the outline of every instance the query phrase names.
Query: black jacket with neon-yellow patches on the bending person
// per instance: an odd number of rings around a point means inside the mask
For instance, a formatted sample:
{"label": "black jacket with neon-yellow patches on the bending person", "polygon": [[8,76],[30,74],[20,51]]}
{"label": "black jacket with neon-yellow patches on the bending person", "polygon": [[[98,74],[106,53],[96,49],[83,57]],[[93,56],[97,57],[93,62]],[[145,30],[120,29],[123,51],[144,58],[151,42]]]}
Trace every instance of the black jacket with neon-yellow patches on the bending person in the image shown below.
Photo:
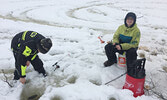
{"label": "black jacket with neon-yellow patches on the bending person", "polygon": [[17,54],[16,68],[20,77],[26,76],[27,59],[34,60],[37,56],[37,44],[41,39],[45,38],[41,34],[34,31],[24,31],[14,36],[11,43],[11,49]]}

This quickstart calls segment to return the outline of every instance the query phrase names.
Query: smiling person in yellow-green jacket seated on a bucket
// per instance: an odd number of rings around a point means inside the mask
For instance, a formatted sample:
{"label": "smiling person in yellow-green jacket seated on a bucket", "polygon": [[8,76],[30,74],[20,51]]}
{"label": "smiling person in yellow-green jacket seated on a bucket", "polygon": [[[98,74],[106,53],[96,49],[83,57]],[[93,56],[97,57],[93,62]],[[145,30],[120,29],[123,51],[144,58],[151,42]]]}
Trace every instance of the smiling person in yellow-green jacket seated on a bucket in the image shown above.
{"label": "smiling person in yellow-green jacket seated on a bucket", "polygon": [[107,61],[104,66],[108,67],[117,63],[116,52],[119,54],[126,54],[126,64],[132,64],[137,59],[137,49],[140,41],[140,30],[136,24],[136,15],[129,12],[125,19],[124,24],[119,26],[113,36],[113,41],[108,42],[105,46]]}

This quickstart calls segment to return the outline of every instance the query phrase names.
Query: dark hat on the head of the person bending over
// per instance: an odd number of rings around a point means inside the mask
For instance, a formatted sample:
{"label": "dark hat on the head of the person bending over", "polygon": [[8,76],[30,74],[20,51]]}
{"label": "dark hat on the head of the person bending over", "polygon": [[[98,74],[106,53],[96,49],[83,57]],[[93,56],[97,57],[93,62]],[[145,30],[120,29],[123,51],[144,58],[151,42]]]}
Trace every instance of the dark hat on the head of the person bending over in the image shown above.
{"label": "dark hat on the head of the person bending over", "polygon": [[40,42],[37,44],[37,48],[43,54],[47,53],[51,47],[52,47],[52,41],[50,38],[41,39]]}

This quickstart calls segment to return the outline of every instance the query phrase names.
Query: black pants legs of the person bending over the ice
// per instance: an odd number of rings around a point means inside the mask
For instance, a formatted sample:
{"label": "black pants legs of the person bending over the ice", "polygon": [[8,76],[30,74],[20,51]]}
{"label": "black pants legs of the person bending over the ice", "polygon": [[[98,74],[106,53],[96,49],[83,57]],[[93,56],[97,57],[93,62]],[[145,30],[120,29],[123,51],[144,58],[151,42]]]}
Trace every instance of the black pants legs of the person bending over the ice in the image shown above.
{"label": "black pants legs of the person bending over the ice", "polygon": [[[15,71],[14,71],[14,80],[18,80],[20,79],[20,74],[18,72],[18,67],[20,67],[20,65],[18,64],[18,61],[17,61],[17,56],[18,56],[18,53],[15,53],[13,52],[14,54],[14,58],[15,58]],[[34,67],[35,71],[37,71],[38,73],[42,73],[43,75],[46,73],[45,72],[45,69],[43,67],[43,62],[41,61],[41,59],[39,58],[39,56],[37,55],[35,57],[35,59],[31,60],[32,56],[30,57],[27,57],[27,61],[30,61],[32,66]]]}

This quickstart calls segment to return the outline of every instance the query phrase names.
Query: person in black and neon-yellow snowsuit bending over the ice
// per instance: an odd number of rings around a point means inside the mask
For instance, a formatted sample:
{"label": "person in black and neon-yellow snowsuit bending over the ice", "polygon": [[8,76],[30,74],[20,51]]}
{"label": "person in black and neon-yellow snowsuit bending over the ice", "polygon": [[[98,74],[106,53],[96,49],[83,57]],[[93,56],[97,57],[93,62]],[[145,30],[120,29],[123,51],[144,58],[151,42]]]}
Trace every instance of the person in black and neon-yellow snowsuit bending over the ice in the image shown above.
{"label": "person in black and neon-yellow snowsuit bending over the ice", "polygon": [[15,58],[14,80],[20,80],[22,84],[26,82],[26,67],[30,62],[34,69],[47,76],[43,67],[43,62],[38,57],[38,52],[47,53],[52,47],[50,38],[45,38],[34,31],[24,31],[16,34],[11,42],[11,49]]}

